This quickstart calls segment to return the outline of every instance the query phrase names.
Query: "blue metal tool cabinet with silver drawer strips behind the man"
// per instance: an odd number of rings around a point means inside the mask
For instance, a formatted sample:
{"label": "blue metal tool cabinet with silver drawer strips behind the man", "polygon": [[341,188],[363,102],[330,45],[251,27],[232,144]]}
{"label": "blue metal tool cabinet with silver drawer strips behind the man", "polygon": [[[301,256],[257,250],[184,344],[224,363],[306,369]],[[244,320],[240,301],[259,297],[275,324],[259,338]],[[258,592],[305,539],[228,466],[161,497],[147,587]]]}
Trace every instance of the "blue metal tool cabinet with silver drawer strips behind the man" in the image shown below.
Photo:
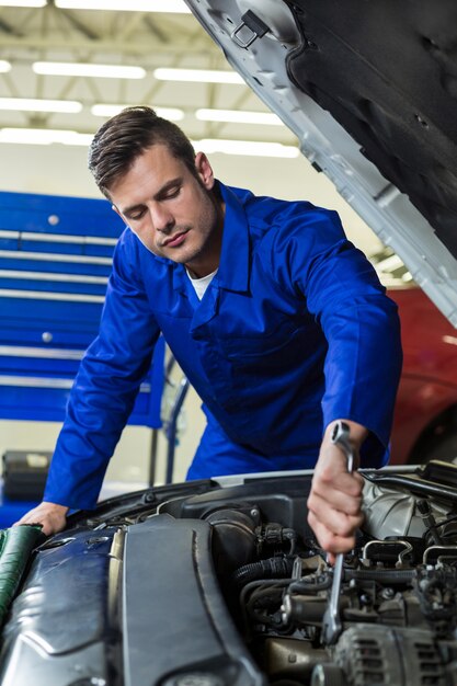
{"label": "blue metal tool cabinet with silver drawer strips behind the man", "polygon": [[[64,420],[123,230],[105,199],[0,192],[0,419]],[[163,351],[132,424],[160,426]]]}

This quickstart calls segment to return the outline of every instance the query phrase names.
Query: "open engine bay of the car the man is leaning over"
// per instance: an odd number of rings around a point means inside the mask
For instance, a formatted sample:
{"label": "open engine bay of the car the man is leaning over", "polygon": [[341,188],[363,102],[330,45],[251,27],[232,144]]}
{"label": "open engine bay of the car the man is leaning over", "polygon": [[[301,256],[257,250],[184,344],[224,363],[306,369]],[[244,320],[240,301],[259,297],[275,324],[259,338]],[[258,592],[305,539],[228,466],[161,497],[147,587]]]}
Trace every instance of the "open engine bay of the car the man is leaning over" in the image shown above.
{"label": "open engine bay of the car the man is leaning over", "polygon": [[306,522],[310,475],[188,482],[77,513],[36,548],[0,683],[457,684],[457,468],[363,476],[331,640],[335,568]]}

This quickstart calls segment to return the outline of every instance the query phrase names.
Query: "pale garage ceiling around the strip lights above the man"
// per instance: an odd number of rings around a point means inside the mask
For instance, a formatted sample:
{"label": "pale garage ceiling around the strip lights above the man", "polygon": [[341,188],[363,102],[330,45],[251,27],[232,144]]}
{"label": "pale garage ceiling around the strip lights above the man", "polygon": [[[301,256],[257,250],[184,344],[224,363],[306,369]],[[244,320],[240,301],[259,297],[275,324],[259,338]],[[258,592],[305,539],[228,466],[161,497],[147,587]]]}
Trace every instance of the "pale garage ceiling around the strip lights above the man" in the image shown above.
{"label": "pale garage ceiling around the strip lights above the man", "polygon": [[[1,3],[0,3],[1,4]],[[155,0],[150,1],[155,5]],[[183,4],[183,10],[186,8]],[[296,145],[284,125],[202,122],[199,107],[266,112],[244,84],[185,83],[158,80],[159,67],[230,71],[219,48],[190,13],[158,13],[60,9],[54,1],[43,8],[0,7],[0,60],[11,64],[0,73],[0,99],[53,99],[82,103],[73,114],[0,110],[0,128],[72,129],[93,134],[104,118],[95,104],[150,104],[180,107],[180,125],[191,138],[278,141]],[[35,61],[89,62],[136,66],[142,79],[43,76]]]}

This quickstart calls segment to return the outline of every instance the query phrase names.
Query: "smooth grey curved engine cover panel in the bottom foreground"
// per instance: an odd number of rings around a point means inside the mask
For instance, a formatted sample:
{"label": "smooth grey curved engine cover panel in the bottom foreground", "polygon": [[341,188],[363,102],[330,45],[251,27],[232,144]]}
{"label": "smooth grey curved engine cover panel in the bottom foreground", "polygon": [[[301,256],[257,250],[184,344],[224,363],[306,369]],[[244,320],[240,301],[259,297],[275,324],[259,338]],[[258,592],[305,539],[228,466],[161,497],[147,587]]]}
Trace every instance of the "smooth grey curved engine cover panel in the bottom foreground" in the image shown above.
{"label": "smooth grey curved engine cover panel in the bottom foreground", "polygon": [[198,684],[196,674],[205,675],[206,681],[199,677],[204,684],[265,686],[222,599],[210,538],[207,522],[169,515],[128,528],[123,583],[126,686]]}

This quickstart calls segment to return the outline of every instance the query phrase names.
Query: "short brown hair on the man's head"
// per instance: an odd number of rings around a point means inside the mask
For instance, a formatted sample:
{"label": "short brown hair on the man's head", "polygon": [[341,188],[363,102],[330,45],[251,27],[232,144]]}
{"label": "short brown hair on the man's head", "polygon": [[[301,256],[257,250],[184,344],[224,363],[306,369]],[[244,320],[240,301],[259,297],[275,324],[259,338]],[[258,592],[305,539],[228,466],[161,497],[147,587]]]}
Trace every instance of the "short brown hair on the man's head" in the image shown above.
{"label": "short brown hair on the man's head", "polygon": [[152,107],[126,107],[102,124],[89,148],[89,169],[101,192],[110,197],[114,182],[155,144],[164,144],[196,175],[194,148],[179,126],[159,117]]}

